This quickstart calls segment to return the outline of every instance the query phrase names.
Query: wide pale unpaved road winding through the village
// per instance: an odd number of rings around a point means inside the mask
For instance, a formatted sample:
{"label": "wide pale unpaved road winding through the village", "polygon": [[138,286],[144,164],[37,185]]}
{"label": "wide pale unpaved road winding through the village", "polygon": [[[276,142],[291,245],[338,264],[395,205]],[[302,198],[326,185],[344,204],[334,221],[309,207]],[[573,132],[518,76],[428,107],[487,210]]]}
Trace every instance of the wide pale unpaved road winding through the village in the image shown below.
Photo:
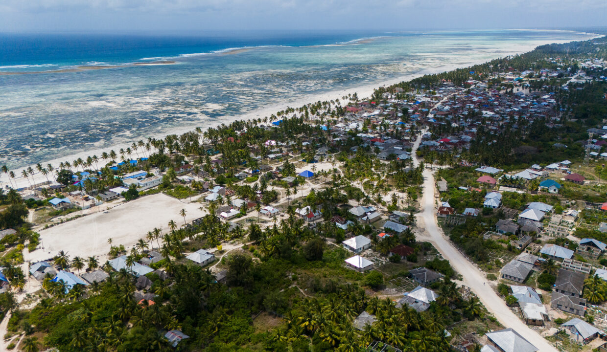
{"label": "wide pale unpaved road winding through the village", "polygon": [[[419,161],[415,156],[415,150],[419,147],[421,138],[419,138],[413,147],[413,163],[419,165]],[[506,302],[501,299],[489,284],[484,284],[487,281],[486,274],[478,270],[466,257],[463,256],[445,236],[443,229],[436,222],[436,199],[435,199],[435,182],[433,172],[424,170],[424,194],[421,199],[421,213],[416,214],[418,219],[418,227],[424,228],[424,232],[418,235],[421,241],[432,243],[434,247],[447,259],[452,267],[462,274],[463,282],[469,286],[472,291],[483,302],[484,306],[492,313],[500,322],[507,328],[513,328],[517,333],[521,334],[525,339],[529,340],[541,352],[554,351],[548,340],[540,336],[540,334],[532,330],[523,323],[507,307]]]}

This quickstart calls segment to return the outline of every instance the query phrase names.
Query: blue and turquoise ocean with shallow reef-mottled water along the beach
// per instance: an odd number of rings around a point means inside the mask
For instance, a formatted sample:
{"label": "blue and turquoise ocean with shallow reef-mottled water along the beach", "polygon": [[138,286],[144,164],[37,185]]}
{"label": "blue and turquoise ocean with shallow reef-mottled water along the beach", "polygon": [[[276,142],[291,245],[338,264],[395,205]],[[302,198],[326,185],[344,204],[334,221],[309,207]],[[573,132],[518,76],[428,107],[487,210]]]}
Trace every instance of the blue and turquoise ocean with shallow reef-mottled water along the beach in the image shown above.
{"label": "blue and turquoise ocean with shallow reef-mottled water along the beach", "polygon": [[[547,30],[4,34],[0,165],[71,162],[75,154],[150,136],[263,118],[268,107],[296,107],[332,92],[595,36]],[[157,61],[174,64],[134,64]],[[102,67],[112,68],[92,69]]]}

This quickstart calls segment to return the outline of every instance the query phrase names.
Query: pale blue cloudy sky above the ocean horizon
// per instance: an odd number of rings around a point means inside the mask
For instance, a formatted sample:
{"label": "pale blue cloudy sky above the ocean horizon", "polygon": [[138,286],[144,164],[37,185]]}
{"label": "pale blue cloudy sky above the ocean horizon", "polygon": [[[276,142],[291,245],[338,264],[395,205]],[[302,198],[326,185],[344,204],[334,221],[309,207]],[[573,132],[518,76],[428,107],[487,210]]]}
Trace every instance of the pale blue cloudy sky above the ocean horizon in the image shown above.
{"label": "pale blue cloudy sky above the ocean horizon", "polygon": [[444,30],[606,25],[607,0],[0,0],[0,32]]}

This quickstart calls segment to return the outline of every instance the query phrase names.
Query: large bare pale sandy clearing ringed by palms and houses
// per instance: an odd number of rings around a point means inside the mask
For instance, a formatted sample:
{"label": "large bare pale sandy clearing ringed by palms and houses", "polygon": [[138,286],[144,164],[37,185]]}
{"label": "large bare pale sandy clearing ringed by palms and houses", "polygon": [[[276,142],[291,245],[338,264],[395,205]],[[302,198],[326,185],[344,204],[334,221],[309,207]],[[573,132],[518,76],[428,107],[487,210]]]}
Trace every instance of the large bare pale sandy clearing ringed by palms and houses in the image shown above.
{"label": "large bare pale sandy clearing ringed by palms and houses", "polygon": [[166,233],[171,220],[178,227],[183,225],[179,215],[181,209],[186,210],[188,222],[206,214],[198,203],[186,204],[166,194],[153,194],[39,231],[45,248],[29,253],[25,259],[30,262],[49,259],[60,250],[72,257],[100,256],[104,259],[109,250],[109,237],[114,245],[123,244],[129,249],[138,239],[145,239],[146,233],[155,227]]}

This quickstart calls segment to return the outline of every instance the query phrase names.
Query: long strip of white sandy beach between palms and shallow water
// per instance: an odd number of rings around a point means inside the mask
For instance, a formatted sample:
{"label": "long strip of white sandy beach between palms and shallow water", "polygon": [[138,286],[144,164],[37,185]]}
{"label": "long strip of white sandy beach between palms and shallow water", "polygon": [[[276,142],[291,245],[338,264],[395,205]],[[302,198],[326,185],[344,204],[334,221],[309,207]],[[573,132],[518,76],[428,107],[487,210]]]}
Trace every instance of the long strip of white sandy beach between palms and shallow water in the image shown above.
{"label": "long strip of white sandy beach between palms and shallow water", "polygon": [[[595,38],[599,38],[599,37],[600,37],[600,35],[597,35]],[[594,39],[594,38],[592,38],[592,39]],[[586,40],[591,40],[591,39],[586,39]],[[570,42],[570,41],[556,41],[556,42],[555,41],[546,41],[546,42],[541,42],[541,44],[529,44],[527,48],[524,48],[524,50],[508,53],[507,55],[504,55],[504,56],[520,55],[522,53],[527,53],[529,51],[534,50],[534,48],[536,48],[540,45],[546,45],[549,43],[565,43],[565,42]],[[370,96],[373,93],[373,91],[379,87],[393,85],[393,84],[403,82],[403,81],[410,81],[411,79],[418,78],[418,77],[421,77],[424,75],[432,75],[432,74],[441,73],[441,72],[445,72],[445,71],[455,70],[457,68],[464,68],[464,67],[469,67],[469,66],[476,65],[476,64],[483,64],[484,62],[490,61],[492,59],[495,59],[495,58],[479,59],[476,61],[466,62],[465,64],[441,65],[441,66],[436,66],[436,67],[432,67],[432,68],[427,68],[426,70],[421,70],[416,73],[410,73],[409,75],[398,76],[396,78],[379,79],[378,81],[371,82],[371,83],[364,84],[364,85],[357,85],[357,86],[350,87],[350,88],[339,88],[339,89],[325,91],[323,93],[318,93],[318,94],[313,93],[310,95],[303,95],[302,98],[295,99],[293,101],[280,102],[278,104],[272,104],[272,105],[268,105],[267,107],[248,111],[248,112],[240,114],[240,115],[226,115],[226,116],[222,116],[222,118],[220,118],[220,119],[215,119],[214,121],[206,121],[204,127],[198,126],[195,122],[189,123],[189,124],[181,125],[178,127],[168,128],[168,129],[164,130],[162,133],[152,133],[152,134],[148,134],[146,136],[143,136],[143,134],[142,134],[138,137],[134,136],[134,138],[129,139],[129,141],[121,141],[121,142],[115,142],[115,143],[110,142],[110,145],[108,145],[107,147],[103,147],[103,148],[90,148],[87,150],[76,151],[73,154],[61,156],[61,157],[52,159],[50,161],[40,162],[40,164],[43,167],[46,167],[47,164],[52,164],[53,167],[58,168],[59,162],[64,162],[64,161],[72,162],[75,159],[78,159],[78,158],[86,159],[87,156],[93,156],[93,155],[97,155],[98,157],[100,157],[100,155],[101,155],[101,153],[103,153],[103,151],[109,152],[110,150],[117,151],[117,150],[120,150],[120,148],[127,148],[127,147],[130,147],[133,142],[137,142],[139,140],[145,141],[146,139],[148,139],[148,137],[160,139],[160,138],[164,138],[164,137],[168,136],[169,134],[179,135],[179,134],[187,133],[189,131],[194,130],[194,128],[196,128],[196,127],[201,127],[202,130],[205,131],[205,130],[208,130],[209,128],[217,127],[221,124],[228,125],[234,121],[241,121],[241,120],[246,121],[248,119],[264,118],[266,116],[270,117],[270,115],[276,113],[277,111],[284,110],[287,107],[301,107],[303,105],[310,104],[311,102],[316,102],[316,101],[330,101],[330,100],[337,99],[337,100],[343,102],[341,99],[342,96],[347,96],[348,94],[356,93],[358,95],[359,99],[363,99],[363,98],[367,98],[368,96]],[[146,62],[145,64],[149,64],[149,63]],[[135,133],[133,133],[133,134],[135,135]],[[16,184],[16,188],[29,187],[29,181],[27,181],[27,179],[24,179],[22,176],[20,176],[21,171],[27,169],[28,167],[32,167],[35,170],[35,165],[36,164],[31,164],[31,165],[25,165],[22,167],[11,169],[11,171],[15,172],[15,174],[18,176],[15,179],[10,179],[10,181],[13,182],[13,184]],[[52,180],[52,177],[49,179]],[[44,175],[42,175],[41,173],[39,173],[38,171],[36,171],[35,174],[30,176],[30,180],[31,180],[30,182],[32,182],[32,184],[38,184],[40,182],[46,181],[46,177]],[[4,173],[0,173],[0,181],[2,181],[3,184],[10,185],[10,182],[8,182],[8,177]]]}

